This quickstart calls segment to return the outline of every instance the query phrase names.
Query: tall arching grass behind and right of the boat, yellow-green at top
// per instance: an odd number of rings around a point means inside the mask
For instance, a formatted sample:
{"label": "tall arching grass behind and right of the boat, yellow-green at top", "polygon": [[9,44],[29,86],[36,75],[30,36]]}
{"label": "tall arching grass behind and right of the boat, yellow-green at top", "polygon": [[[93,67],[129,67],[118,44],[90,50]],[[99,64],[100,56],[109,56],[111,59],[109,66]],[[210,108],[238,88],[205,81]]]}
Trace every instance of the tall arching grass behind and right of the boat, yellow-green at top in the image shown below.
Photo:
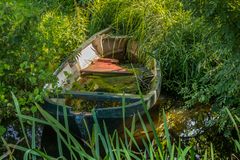
{"label": "tall arching grass behind and right of the boat, yellow-green at top", "polygon": [[133,36],[139,54],[162,62],[164,89],[177,94],[211,70],[212,61],[229,54],[217,45],[221,35],[215,28],[184,10],[181,1],[99,0],[90,10],[90,33],[111,25],[118,34]]}

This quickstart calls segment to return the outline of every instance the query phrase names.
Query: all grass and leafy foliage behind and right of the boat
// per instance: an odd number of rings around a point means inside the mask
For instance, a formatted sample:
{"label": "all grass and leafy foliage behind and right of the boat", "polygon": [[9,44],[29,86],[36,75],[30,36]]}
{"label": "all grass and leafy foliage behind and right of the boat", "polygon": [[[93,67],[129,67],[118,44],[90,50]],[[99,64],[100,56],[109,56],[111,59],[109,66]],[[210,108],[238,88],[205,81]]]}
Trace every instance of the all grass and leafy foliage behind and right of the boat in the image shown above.
{"label": "all grass and leafy foliage behind and right of the boat", "polygon": [[[99,0],[90,7],[91,32],[112,25],[140,43],[140,54],[162,65],[163,90],[182,96],[190,107],[213,105],[221,116],[239,102],[238,0]],[[93,10],[92,10],[93,8]],[[219,119],[224,128],[227,119]]]}

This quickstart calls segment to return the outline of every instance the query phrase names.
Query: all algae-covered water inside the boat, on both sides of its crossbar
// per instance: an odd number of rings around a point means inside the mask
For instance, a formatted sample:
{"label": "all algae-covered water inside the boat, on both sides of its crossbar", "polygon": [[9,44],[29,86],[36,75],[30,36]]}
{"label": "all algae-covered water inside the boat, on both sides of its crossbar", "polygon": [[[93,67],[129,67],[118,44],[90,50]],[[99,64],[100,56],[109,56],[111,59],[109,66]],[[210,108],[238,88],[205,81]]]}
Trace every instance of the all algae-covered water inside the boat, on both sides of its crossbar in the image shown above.
{"label": "all algae-covered water inside the boat, on both sides of its crossbar", "polygon": [[[122,64],[129,74],[85,74],[72,84],[71,90],[82,92],[107,92],[107,93],[128,93],[146,94],[151,88],[153,74],[146,67],[135,64]],[[139,87],[138,87],[139,84]],[[105,101],[99,103],[94,100],[76,99],[66,97],[66,105],[71,106],[74,112],[90,112],[93,108],[117,107],[120,102]],[[101,104],[101,105],[99,105]]]}

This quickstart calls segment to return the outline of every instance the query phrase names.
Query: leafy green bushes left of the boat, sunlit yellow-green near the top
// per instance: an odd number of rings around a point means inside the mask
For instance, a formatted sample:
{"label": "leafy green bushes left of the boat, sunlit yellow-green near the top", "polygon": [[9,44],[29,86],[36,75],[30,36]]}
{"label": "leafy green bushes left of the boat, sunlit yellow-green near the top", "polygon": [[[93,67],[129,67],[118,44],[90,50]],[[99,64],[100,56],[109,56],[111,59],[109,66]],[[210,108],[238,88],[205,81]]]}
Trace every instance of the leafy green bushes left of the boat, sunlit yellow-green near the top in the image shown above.
{"label": "leafy green bushes left of the boat, sunlit yellow-green near the top", "polygon": [[[87,18],[63,2],[0,2],[0,117],[12,116],[10,91],[25,110],[42,101],[57,65],[84,39]],[[0,118],[0,119],[1,119]]]}

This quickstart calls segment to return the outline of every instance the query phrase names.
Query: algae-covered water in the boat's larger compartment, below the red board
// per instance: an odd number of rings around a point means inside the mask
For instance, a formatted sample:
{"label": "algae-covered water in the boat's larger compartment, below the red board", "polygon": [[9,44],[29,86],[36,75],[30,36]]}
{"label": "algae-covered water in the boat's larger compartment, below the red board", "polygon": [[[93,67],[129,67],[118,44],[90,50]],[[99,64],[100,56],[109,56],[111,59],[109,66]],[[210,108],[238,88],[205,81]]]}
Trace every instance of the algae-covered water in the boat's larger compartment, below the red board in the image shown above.
{"label": "algae-covered water in the boat's larger compartment, below the red board", "polygon": [[78,81],[74,82],[71,90],[109,92],[109,93],[130,93],[138,94],[138,86],[144,94],[150,89],[150,82],[153,74],[146,67],[140,64],[121,64],[127,74],[121,73],[92,73],[81,75]]}

